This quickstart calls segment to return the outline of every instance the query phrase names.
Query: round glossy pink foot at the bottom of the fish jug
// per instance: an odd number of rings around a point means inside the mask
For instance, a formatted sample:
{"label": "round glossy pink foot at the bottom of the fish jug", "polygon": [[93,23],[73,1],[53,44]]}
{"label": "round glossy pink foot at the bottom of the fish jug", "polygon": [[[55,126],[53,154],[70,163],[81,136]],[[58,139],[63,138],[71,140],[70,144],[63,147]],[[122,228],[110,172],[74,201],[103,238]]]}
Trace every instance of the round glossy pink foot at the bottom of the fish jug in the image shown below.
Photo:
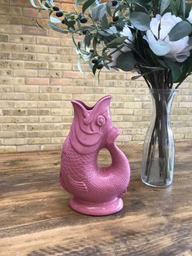
{"label": "round glossy pink foot at the bottom of the fish jug", "polygon": [[122,210],[124,203],[120,197],[116,197],[113,201],[105,203],[91,203],[85,201],[78,201],[76,198],[72,198],[69,201],[69,205],[73,210],[81,214],[104,216],[109,214],[116,214]]}

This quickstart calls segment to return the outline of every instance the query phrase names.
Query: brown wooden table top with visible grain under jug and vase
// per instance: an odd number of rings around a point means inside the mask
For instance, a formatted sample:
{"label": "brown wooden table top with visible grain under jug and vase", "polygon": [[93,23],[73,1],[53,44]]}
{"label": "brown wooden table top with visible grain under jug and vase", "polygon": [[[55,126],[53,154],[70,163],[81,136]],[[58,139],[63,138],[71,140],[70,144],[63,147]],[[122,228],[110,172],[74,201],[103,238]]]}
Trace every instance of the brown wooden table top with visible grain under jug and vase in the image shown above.
{"label": "brown wooden table top with visible grain under jug and vase", "polygon": [[69,208],[58,183],[59,151],[0,155],[0,255],[192,255],[192,142],[176,146],[175,179],[166,189],[140,181],[141,144],[122,147],[129,192],[124,210],[107,217]]}

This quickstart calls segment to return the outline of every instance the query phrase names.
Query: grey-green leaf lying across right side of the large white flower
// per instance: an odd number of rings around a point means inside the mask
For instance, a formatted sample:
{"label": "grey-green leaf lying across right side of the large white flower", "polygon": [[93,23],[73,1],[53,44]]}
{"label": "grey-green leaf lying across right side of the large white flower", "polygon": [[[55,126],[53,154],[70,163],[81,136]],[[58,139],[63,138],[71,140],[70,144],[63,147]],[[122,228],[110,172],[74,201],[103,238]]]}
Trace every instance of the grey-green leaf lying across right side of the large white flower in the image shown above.
{"label": "grey-green leaf lying across right side of the large white flower", "polygon": [[168,33],[169,40],[177,41],[181,38],[185,38],[186,36],[189,36],[191,31],[192,29],[190,23],[182,20],[179,23],[177,23]]}

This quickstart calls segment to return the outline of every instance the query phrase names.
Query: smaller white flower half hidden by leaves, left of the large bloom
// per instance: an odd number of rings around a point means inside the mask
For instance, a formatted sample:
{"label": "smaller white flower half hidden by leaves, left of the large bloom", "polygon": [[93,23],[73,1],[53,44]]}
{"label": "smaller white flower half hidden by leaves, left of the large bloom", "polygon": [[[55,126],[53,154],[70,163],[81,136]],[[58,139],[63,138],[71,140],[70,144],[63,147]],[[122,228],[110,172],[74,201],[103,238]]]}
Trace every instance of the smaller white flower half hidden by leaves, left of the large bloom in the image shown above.
{"label": "smaller white flower half hidden by leaves, left of the large bloom", "polygon": [[[120,32],[120,35],[122,37],[128,37],[124,42],[131,45],[133,42],[133,34],[131,30],[129,29],[128,25],[124,25],[124,29],[122,32]],[[120,51],[116,51],[116,48],[110,48],[109,51],[111,52],[111,59],[113,60],[110,64],[108,64],[109,67],[116,67],[116,59],[126,51],[131,51],[129,46],[124,46],[120,49]]]}

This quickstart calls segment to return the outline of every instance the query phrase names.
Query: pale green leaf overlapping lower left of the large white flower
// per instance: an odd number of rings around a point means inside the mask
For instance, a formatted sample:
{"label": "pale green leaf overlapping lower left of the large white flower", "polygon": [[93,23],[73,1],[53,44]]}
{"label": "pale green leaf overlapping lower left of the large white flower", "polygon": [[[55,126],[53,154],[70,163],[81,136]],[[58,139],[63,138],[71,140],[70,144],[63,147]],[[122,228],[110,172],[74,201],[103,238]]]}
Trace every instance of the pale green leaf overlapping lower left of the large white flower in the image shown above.
{"label": "pale green leaf overlapping lower left of the large white flower", "polygon": [[149,42],[149,46],[151,50],[155,53],[155,55],[158,56],[164,56],[168,54],[168,52],[171,50],[171,47],[169,46],[168,42],[164,42],[161,40]]}

